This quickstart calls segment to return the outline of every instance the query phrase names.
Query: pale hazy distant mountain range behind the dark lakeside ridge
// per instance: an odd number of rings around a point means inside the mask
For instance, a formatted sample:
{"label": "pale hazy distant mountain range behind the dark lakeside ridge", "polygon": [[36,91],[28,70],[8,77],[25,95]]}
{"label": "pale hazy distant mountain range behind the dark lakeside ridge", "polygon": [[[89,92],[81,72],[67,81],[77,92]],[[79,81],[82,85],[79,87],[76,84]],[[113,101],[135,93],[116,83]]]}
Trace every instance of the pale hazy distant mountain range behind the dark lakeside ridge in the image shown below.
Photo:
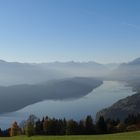
{"label": "pale hazy distant mountain range behind the dark lakeside ridge", "polygon": [[96,62],[19,63],[0,60],[0,85],[38,84],[41,82],[72,78],[101,77],[114,65]]}

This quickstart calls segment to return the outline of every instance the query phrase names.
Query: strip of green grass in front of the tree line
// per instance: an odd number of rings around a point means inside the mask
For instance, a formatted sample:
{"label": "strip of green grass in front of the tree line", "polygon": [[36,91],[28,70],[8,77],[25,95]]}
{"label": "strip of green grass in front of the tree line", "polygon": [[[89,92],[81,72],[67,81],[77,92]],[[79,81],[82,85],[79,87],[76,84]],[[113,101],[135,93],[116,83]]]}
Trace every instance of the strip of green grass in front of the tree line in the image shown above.
{"label": "strip of green grass in front of the tree line", "polygon": [[18,136],[0,138],[0,140],[140,140],[140,131],[96,136],[34,136],[30,138],[26,136]]}

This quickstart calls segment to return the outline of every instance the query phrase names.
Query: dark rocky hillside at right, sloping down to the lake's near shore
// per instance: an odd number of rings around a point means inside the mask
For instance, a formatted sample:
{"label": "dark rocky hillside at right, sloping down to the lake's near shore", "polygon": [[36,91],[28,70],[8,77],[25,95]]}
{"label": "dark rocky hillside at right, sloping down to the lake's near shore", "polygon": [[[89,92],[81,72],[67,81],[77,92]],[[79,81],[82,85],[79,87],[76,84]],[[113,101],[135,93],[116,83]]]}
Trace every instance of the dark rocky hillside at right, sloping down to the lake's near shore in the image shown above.
{"label": "dark rocky hillside at right, sloping down to the lake's near shore", "polygon": [[96,115],[96,119],[99,116],[104,116],[105,119],[125,119],[129,114],[140,113],[140,93],[129,96],[122,100],[119,100],[111,107],[99,111]]}

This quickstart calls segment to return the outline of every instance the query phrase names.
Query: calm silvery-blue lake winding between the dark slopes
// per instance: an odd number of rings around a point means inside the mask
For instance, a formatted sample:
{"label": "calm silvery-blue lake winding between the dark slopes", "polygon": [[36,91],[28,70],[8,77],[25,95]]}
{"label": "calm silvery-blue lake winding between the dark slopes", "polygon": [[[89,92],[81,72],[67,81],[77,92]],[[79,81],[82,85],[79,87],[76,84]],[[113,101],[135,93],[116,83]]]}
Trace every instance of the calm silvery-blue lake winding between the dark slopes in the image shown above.
{"label": "calm silvery-blue lake winding between the dark slopes", "polygon": [[21,122],[26,120],[30,114],[37,117],[49,116],[67,119],[83,119],[87,115],[94,118],[96,113],[106,107],[109,107],[119,99],[135,94],[131,87],[126,86],[124,82],[104,81],[104,83],[94,89],[91,93],[80,99],[53,101],[46,100],[19,111],[0,115],[0,128],[7,128],[12,122]]}

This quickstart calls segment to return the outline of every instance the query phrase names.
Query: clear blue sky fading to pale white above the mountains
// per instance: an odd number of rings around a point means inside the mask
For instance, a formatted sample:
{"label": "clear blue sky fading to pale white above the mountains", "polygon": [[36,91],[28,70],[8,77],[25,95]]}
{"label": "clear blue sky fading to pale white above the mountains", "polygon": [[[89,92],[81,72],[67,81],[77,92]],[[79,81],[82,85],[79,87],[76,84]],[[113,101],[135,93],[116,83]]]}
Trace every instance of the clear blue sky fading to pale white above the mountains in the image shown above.
{"label": "clear blue sky fading to pale white above the mountains", "polygon": [[120,63],[137,57],[139,0],[0,0],[0,59]]}

